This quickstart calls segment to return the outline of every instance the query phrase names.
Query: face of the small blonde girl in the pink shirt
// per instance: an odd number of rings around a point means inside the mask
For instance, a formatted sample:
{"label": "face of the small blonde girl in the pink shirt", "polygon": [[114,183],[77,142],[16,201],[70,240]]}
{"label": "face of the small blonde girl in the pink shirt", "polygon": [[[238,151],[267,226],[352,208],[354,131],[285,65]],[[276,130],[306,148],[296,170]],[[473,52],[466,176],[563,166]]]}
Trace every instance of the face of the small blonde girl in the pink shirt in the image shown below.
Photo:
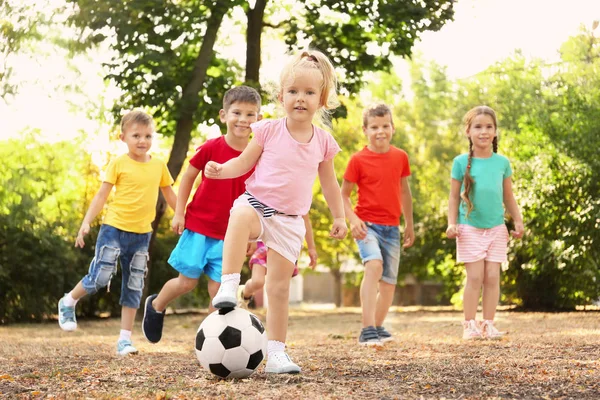
{"label": "face of the small blonde girl in the pink shirt", "polygon": [[320,72],[315,69],[301,68],[296,70],[293,80],[283,86],[280,100],[288,118],[298,122],[311,122],[321,107]]}

